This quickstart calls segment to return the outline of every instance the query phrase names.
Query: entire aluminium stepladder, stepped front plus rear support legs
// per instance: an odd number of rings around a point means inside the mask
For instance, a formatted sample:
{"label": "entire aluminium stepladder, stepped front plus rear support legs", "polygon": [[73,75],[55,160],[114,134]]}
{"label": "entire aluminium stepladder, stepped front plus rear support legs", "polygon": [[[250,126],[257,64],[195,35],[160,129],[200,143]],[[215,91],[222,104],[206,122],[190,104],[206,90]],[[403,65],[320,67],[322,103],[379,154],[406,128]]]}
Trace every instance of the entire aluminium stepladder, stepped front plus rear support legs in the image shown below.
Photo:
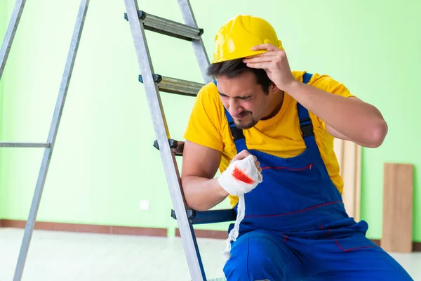
{"label": "entire aluminium stepladder, stepped front plus rear support legs", "polygon": [[[15,6],[11,15],[6,35],[3,44],[0,48],[0,79],[6,65],[8,54],[10,53],[15,32],[20,22],[23,8],[26,0],[16,0]],[[39,169],[39,176],[36,181],[34,196],[29,210],[29,216],[25,225],[25,233],[20,247],[18,263],[15,268],[14,281],[22,279],[29,244],[32,239],[32,233],[36,222],[36,214],[38,213],[39,204],[41,201],[42,192],[44,190],[44,183],[48,172],[48,167],[53,154],[55,138],[58,133],[58,127],[62,115],[62,110],[65,105],[65,98],[67,96],[67,89],[72,71],[76,53],[79,48],[79,41],[83,30],[83,24],[88,10],[89,0],[81,0],[79,12],[74,26],[72,41],[67,55],[65,70],[62,75],[60,90],[58,93],[51,127],[48,133],[46,143],[17,143],[17,142],[0,142],[0,148],[44,148],[44,156]],[[135,43],[136,53],[138,55],[138,63],[142,75],[139,81],[145,84],[145,91],[149,102],[149,109],[154,122],[154,129],[156,131],[157,141],[154,146],[159,149],[161,147],[161,159],[163,161],[164,170],[170,188],[171,198],[173,200],[174,209],[171,216],[177,219],[180,234],[182,237],[182,244],[185,248],[187,256],[187,263],[193,281],[206,280],[206,276],[201,263],[199,249],[196,243],[196,237],[192,225],[198,223],[215,223],[223,221],[234,221],[236,214],[233,209],[228,210],[214,210],[214,211],[194,211],[188,209],[185,199],[180,188],[180,175],[178,173],[177,164],[175,162],[175,155],[182,155],[182,142],[177,142],[168,139],[168,127],[163,114],[159,91],[166,91],[169,93],[178,93],[187,96],[196,96],[197,92],[203,84],[184,81],[180,79],[173,79],[169,77],[162,77],[159,74],[154,74],[149,50],[145,39],[145,30],[152,30],[161,34],[166,34],[179,39],[192,41],[196,59],[201,68],[201,74],[205,82],[209,82],[210,78],[206,76],[206,68],[208,66],[208,57],[206,55],[203,41],[201,41],[201,34],[203,30],[196,27],[196,21],[192,13],[192,8],[188,0],[179,0],[180,9],[186,25],[178,22],[166,20],[156,17],[154,15],[147,15],[142,11],[138,11],[138,4],[136,1],[125,0],[126,3],[126,20],[130,22],[133,41]],[[144,81],[145,80],[145,81]],[[221,279],[223,280],[223,279]],[[216,281],[216,280],[215,280]]]}

